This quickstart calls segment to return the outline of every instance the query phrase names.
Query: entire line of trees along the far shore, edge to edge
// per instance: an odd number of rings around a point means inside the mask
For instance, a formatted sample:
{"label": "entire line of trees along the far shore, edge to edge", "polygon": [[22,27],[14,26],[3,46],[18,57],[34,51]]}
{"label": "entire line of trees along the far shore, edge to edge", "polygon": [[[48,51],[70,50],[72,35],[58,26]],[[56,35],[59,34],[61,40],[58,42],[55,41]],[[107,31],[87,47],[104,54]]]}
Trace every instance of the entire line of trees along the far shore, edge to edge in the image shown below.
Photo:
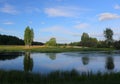
{"label": "entire line of trees along the far shore, edge to edge", "polygon": [[34,42],[34,31],[27,26],[24,31],[24,40],[16,36],[8,36],[0,34],[0,45],[46,45],[46,46],[82,46],[82,47],[96,47],[96,48],[116,48],[120,49],[120,40],[113,39],[114,32],[111,28],[106,28],[103,31],[105,40],[98,41],[97,38],[90,37],[88,33],[83,32],[79,42],[71,42],[69,44],[58,44],[56,38],[52,37],[46,43]]}

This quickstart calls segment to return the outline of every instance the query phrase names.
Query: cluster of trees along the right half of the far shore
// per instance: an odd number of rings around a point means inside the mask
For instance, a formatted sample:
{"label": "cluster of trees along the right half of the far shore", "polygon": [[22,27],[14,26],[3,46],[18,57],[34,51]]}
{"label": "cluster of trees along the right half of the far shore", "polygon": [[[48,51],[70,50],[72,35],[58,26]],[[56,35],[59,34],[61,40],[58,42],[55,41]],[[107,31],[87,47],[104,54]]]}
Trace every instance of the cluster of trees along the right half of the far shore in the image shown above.
{"label": "cluster of trees along the right half of the far shore", "polygon": [[106,28],[103,31],[105,40],[98,41],[96,38],[90,37],[88,33],[83,33],[81,36],[81,41],[72,42],[70,46],[82,46],[82,47],[97,47],[97,48],[116,48],[120,49],[120,40],[115,41],[113,39],[114,32],[110,28]]}

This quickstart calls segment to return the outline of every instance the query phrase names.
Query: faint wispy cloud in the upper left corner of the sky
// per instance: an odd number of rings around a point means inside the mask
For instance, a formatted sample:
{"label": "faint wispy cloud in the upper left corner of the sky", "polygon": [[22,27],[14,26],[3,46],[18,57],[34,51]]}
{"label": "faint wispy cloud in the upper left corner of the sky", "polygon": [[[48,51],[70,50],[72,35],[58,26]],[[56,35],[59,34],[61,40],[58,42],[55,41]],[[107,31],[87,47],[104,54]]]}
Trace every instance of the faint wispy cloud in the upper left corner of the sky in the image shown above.
{"label": "faint wispy cloud in the upper left corner of the sky", "polygon": [[3,7],[1,7],[0,12],[13,14],[13,15],[18,14],[18,11],[15,9],[15,7],[10,4],[5,4]]}

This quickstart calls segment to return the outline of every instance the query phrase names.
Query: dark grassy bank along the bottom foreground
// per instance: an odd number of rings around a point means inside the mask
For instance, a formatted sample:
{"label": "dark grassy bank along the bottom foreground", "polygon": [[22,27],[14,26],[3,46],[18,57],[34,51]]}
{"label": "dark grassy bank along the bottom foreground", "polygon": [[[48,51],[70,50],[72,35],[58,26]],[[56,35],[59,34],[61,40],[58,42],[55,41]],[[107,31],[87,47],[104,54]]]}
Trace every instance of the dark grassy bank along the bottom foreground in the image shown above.
{"label": "dark grassy bank along the bottom foreground", "polygon": [[48,75],[20,71],[0,71],[0,84],[120,84],[120,73],[78,75],[76,71],[56,71]]}

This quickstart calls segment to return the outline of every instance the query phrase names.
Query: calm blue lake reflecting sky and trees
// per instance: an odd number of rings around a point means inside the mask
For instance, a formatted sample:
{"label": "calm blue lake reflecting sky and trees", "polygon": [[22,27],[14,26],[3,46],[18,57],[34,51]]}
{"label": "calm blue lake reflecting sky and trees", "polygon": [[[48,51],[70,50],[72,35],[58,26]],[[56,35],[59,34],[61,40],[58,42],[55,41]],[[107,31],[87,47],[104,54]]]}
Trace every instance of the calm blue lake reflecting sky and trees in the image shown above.
{"label": "calm blue lake reflecting sky and trees", "polygon": [[0,70],[47,74],[76,70],[79,73],[120,71],[120,51],[84,51],[64,53],[0,53]]}

